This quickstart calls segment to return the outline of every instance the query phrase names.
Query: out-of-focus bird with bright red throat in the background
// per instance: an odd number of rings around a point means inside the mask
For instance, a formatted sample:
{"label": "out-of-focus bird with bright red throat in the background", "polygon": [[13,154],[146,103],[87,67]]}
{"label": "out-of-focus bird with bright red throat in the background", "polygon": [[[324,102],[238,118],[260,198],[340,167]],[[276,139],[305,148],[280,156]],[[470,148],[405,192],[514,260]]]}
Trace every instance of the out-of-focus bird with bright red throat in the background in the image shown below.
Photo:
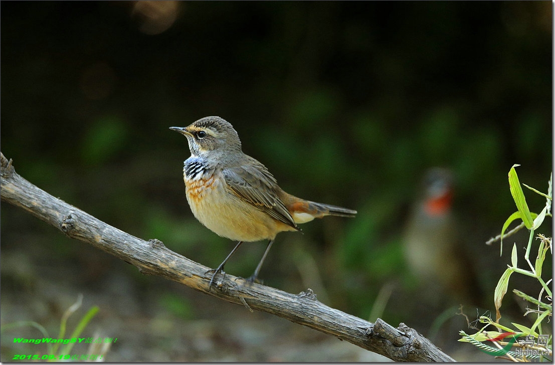
{"label": "out-of-focus bird with bright red throat in the background", "polygon": [[403,234],[405,259],[425,302],[476,304],[480,299],[471,253],[465,250],[452,212],[453,174],[432,168]]}

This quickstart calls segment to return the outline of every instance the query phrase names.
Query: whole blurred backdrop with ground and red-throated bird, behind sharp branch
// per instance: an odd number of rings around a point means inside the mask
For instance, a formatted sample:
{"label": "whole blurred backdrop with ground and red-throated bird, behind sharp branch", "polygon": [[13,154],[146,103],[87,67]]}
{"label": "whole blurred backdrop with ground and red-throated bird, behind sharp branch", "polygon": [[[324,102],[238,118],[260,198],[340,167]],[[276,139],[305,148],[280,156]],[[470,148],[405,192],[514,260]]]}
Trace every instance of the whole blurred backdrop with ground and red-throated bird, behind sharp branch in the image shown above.
{"label": "whole blurred backdrop with ground and red-throated bird, behind sharp branch", "polygon": [[[521,182],[547,192],[551,2],[3,1],[0,8],[1,149],[24,178],[216,267],[235,242],[191,214],[182,177],[188,146],[168,128],[221,116],[284,190],[359,212],[278,235],[260,273],[265,285],[311,288],[351,315],[404,322],[457,360],[493,359],[456,342],[460,329],[474,331],[455,313],[463,304],[471,321],[495,316],[493,288],[511,246],[527,244],[521,232],[504,241],[501,257],[499,242],[485,245],[516,211],[511,166],[521,164]],[[525,190],[539,212],[544,199]],[[1,207],[2,325],[35,321],[56,337],[82,293],[68,331],[99,306],[83,334],[118,338],[105,361],[380,359],[144,276]],[[551,236],[551,219],[542,233]],[[265,246],[243,245],[226,272],[249,276]],[[509,290],[537,295],[532,280],[513,278]],[[502,322],[527,324],[525,305],[509,293]],[[43,335],[3,330],[2,361],[46,353],[13,337]],[[87,351],[79,346],[73,352]]]}

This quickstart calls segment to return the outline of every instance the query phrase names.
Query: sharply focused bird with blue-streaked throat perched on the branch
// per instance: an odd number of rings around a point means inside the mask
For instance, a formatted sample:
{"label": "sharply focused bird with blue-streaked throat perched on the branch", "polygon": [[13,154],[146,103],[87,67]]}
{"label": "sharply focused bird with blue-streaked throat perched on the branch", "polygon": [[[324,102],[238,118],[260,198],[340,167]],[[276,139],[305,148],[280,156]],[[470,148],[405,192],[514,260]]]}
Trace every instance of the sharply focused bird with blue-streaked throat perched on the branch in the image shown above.
{"label": "sharply focused bird with blue-streaked throat perched on the branch", "polygon": [[186,127],[170,127],[186,136],[191,156],[184,161],[186,198],[195,218],[215,234],[238,241],[220,265],[208,272],[209,290],[219,272],[243,242],[268,240],[253,283],[279,232],[327,215],[354,217],[356,210],[321,204],[287,194],[268,169],[243,153],[233,126],[219,116],[206,116]]}

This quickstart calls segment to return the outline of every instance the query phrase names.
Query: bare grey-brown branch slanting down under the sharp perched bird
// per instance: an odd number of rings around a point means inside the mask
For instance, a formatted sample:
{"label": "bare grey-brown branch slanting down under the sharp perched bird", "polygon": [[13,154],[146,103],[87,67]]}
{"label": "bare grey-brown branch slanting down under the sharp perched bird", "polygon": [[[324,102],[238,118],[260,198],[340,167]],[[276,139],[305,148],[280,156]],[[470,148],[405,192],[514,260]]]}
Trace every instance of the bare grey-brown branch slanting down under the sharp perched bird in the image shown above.
{"label": "bare grey-brown branch slanting down under the sharp perched bird", "polygon": [[141,240],[57,199],[16,174],[12,160],[8,161],[2,153],[0,162],[2,201],[21,207],[68,237],[137,266],[143,273],[168,278],[249,309],[273,313],[395,361],[454,361],[404,323],[393,328],[380,319],[371,323],[348,315],[317,301],[310,289],[292,295],[257,283],[245,285],[240,279],[236,281],[235,276],[220,275],[209,291],[210,275],[206,275],[209,267],[176,254],[158,240]]}

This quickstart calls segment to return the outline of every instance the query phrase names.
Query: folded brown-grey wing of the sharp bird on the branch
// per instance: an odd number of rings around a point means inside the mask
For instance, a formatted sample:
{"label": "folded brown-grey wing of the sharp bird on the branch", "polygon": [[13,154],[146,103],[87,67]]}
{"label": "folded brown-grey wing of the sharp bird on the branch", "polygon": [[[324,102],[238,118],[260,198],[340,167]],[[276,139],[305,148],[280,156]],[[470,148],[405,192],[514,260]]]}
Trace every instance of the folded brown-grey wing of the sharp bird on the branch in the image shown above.
{"label": "folded brown-grey wing of the sharp bird on the branch", "polygon": [[293,217],[278,196],[280,188],[274,176],[258,161],[224,169],[225,182],[240,200],[265,212],[273,219],[297,228]]}

